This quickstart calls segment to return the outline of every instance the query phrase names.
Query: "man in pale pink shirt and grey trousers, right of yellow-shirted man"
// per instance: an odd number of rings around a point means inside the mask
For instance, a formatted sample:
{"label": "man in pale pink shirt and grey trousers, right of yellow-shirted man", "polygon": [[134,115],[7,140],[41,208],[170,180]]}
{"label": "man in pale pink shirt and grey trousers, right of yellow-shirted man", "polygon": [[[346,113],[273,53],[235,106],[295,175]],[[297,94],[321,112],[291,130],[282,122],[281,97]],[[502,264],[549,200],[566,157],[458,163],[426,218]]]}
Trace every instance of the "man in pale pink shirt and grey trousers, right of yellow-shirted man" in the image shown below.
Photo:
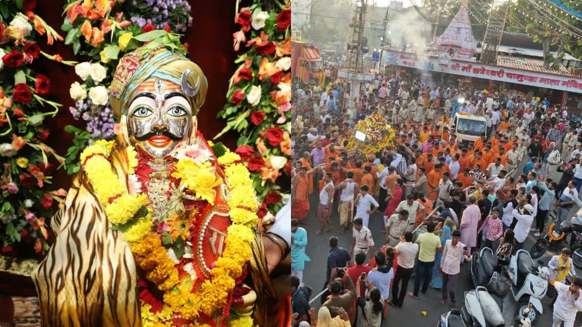
{"label": "man in pale pink shirt and grey trousers, right of yellow-shirted man", "polygon": [[446,303],[447,292],[450,295],[451,307],[457,308],[457,299],[455,297],[455,290],[457,288],[457,279],[459,279],[459,272],[461,260],[463,255],[466,260],[471,260],[471,255],[467,251],[465,244],[459,241],[461,232],[453,230],[451,239],[445,242],[442,250],[441,264],[438,268],[442,271],[442,298],[439,304],[443,307]]}

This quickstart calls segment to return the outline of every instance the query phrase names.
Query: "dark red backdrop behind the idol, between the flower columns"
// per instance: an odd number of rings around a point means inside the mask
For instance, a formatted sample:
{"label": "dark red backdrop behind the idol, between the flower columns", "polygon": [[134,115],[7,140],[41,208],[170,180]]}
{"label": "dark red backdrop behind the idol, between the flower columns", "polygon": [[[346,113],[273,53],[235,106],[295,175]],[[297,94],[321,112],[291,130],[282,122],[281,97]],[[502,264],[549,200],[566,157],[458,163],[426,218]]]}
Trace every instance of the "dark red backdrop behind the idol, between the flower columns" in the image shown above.
{"label": "dark red backdrop behind the idol, between the flower columns", "polygon": [[[225,104],[228,80],[235,72],[233,63],[235,53],[232,49],[232,33],[236,31],[235,2],[228,0],[189,0],[189,2],[192,7],[190,15],[193,17],[193,24],[182,41],[190,45],[188,58],[201,67],[208,79],[206,101],[198,114],[198,129],[210,140],[226,125],[225,120],[217,118],[217,113]],[[37,1],[34,10],[63,37],[66,35],[61,31],[64,5],[65,0]],[[75,57],[71,45],[65,45],[63,42],[47,45],[46,37],[39,37],[38,40],[41,49],[49,54],[60,54],[65,60],[78,62],[88,59]],[[67,148],[72,144],[73,134],[66,133],[63,129],[67,125],[84,127],[84,122],[74,120],[69,112],[69,106],[74,105],[69,95],[69,87],[80,79],[74,73],[73,67],[47,59],[43,59],[42,66],[37,65],[36,69],[51,79],[51,94],[48,99],[63,105],[58,115],[45,121],[45,124],[51,131],[47,144],[64,157]],[[227,133],[222,136],[221,141],[233,148],[236,145],[236,138],[235,133]],[[68,189],[70,176],[63,169],[59,170],[55,173],[54,184]]]}

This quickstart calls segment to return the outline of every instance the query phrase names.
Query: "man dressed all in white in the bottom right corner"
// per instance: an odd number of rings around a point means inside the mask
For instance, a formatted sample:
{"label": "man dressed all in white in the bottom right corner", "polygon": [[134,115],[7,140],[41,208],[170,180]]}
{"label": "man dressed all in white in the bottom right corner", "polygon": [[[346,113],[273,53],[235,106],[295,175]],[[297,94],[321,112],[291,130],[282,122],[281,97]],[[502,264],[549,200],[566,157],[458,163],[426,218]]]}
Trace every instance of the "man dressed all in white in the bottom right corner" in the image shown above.
{"label": "man dressed all in white in the bottom right corner", "polygon": [[582,287],[582,279],[574,277],[570,285],[565,285],[560,282],[553,283],[558,292],[556,303],[553,304],[553,324],[552,327],[562,326],[574,327],[576,314],[582,311],[582,299],[580,298],[580,287]]}

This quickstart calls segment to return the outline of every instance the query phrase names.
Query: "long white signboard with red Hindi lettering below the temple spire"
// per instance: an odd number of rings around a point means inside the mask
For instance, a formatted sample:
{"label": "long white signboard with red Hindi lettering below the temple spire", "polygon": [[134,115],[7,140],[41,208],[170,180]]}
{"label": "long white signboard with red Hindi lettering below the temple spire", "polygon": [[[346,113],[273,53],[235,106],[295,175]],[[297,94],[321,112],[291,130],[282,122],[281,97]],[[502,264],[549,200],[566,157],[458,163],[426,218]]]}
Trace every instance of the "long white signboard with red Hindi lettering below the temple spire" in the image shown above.
{"label": "long white signboard with red Hindi lettering below the temple spire", "polygon": [[448,61],[446,58],[420,57],[416,54],[390,50],[386,50],[386,53],[387,55],[384,58],[386,58],[385,63],[388,65],[582,93],[582,79],[574,76],[534,72],[480,62],[457,61],[455,59]]}

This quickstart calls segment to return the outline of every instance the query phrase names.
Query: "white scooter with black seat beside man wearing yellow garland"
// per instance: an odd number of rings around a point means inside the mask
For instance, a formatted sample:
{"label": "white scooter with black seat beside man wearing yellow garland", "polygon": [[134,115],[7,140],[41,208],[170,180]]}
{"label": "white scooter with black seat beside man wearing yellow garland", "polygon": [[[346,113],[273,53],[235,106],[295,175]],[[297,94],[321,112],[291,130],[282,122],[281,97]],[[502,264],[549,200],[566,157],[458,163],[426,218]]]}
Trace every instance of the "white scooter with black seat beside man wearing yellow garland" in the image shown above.
{"label": "white scooter with black seat beside man wearing yellow garland", "polygon": [[534,264],[526,250],[519,250],[513,255],[509,261],[509,269],[513,271],[511,291],[514,300],[520,302],[522,297],[530,296],[529,300],[520,307],[519,314],[530,318],[533,322],[538,313],[544,314],[540,300],[548,291],[546,273],[544,269]]}

